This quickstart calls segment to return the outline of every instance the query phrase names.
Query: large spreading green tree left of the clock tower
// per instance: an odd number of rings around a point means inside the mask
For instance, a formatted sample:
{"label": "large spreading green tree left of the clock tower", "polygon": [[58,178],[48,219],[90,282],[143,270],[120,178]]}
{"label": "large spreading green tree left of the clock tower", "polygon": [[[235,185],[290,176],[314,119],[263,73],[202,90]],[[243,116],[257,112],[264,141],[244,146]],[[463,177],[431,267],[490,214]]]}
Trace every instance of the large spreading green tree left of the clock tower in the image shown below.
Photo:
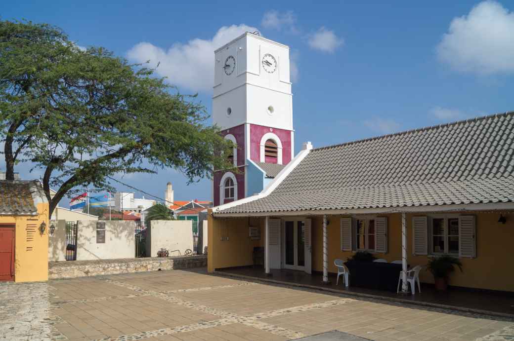
{"label": "large spreading green tree left of the clock tower", "polygon": [[229,167],[214,151],[230,142],[206,124],[205,107],[153,72],[103,48],[84,51],[59,28],[0,21],[6,178],[21,162],[41,168],[51,216],[80,188],[112,190],[115,174],[172,167],[192,182]]}

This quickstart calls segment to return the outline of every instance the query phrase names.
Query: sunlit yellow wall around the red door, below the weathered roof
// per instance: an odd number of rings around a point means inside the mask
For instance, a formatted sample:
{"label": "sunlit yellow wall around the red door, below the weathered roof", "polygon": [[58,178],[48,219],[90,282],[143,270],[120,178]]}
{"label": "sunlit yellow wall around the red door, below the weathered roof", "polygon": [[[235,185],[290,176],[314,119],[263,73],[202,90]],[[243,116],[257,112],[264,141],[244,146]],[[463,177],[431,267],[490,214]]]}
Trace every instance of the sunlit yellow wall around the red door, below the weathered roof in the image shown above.
{"label": "sunlit yellow wall around the red door, below the weathered roof", "polygon": [[[38,215],[0,216],[0,223],[15,224],[14,280],[16,282],[48,279],[48,203],[39,203]],[[45,233],[39,226],[45,222]],[[27,240],[27,229],[35,229],[33,240]],[[28,249],[31,248],[31,249]]]}

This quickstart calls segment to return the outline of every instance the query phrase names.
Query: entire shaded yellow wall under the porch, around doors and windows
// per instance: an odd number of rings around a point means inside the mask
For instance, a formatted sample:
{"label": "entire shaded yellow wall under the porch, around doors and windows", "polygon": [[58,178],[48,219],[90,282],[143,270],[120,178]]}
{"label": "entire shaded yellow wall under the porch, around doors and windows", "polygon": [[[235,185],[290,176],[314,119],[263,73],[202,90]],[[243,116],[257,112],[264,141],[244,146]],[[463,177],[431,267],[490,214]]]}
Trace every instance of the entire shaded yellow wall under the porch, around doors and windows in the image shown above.
{"label": "entire shaded yellow wall under the porch, around doors and windows", "polygon": [[[458,213],[455,213],[458,214]],[[463,213],[469,215],[470,213]],[[415,214],[425,215],[425,214]],[[475,213],[476,217],[476,258],[461,258],[463,272],[458,269],[450,276],[450,285],[514,292],[514,213],[503,214],[507,223],[498,222],[498,213]],[[388,253],[376,253],[377,258],[389,262],[401,259],[401,215],[377,215],[388,217]],[[425,266],[428,256],[412,254],[412,216],[407,215],[407,259],[409,265]],[[313,271],[323,271],[323,219],[312,219]],[[327,216],[328,271],[337,272],[334,259],[351,257],[354,252],[341,251],[339,219],[341,216]],[[261,227],[261,240],[251,241],[248,237],[248,218],[213,219],[209,216],[209,271],[215,268],[246,266],[252,264],[254,246],[264,245],[264,218],[250,218],[252,225]],[[229,241],[221,241],[221,231],[228,229]],[[211,232],[212,231],[212,232]],[[432,274],[421,271],[422,282],[433,283]]]}

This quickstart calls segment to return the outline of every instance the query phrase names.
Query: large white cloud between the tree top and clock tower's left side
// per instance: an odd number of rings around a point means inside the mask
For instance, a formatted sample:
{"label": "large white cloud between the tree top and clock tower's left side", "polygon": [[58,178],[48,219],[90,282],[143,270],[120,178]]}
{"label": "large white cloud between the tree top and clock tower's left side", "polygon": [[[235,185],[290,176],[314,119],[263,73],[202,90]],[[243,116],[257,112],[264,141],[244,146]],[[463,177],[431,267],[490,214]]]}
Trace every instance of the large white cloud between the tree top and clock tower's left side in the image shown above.
{"label": "large white cloud between the tree top and clock tower's left side", "polygon": [[127,56],[138,63],[150,60],[151,66],[160,62],[156,73],[168,77],[171,84],[208,92],[214,82],[214,50],[247,31],[257,29],[244,24],[223,26],[211,40],[196,38],[187,44],[175,43],[168,50],[142,42],[130,49]]}

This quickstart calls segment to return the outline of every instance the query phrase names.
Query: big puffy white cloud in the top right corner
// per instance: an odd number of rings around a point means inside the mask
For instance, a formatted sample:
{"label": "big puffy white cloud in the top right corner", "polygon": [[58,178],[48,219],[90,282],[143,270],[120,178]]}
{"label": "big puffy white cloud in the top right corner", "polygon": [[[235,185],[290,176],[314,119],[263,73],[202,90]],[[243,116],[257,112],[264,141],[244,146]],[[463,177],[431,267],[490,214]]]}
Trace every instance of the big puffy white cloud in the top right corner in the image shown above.
{"label": "big puffy white cloud in the top right corner", "polygon": [[436,47],[440,61],[476,74],[514,72],[514,12],[484,1],[455,17]]}

